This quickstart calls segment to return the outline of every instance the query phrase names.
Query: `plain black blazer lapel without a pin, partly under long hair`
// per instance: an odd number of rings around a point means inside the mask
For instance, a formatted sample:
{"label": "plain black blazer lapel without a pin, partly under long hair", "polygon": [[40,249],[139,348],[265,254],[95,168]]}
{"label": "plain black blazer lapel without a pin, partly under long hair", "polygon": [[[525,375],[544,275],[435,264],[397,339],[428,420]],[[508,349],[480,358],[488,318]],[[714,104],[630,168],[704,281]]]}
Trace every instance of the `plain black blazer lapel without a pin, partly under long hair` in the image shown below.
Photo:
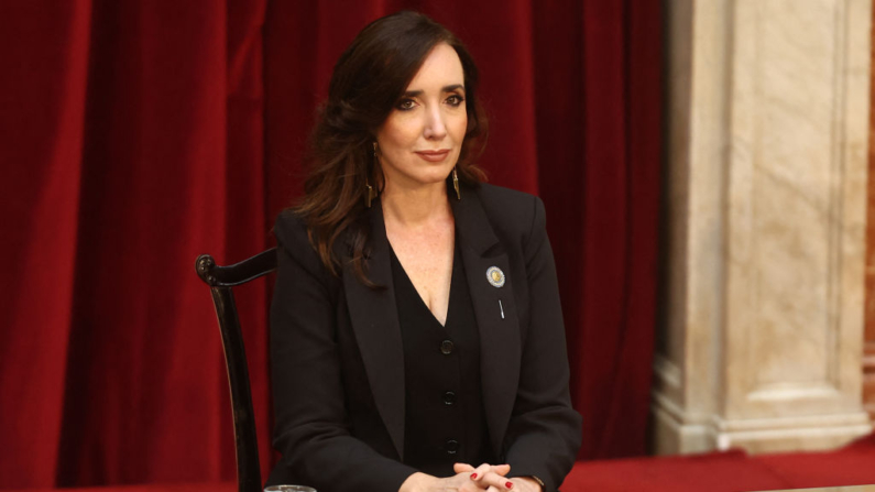
{"label": "plain black blazer lapel without a pin, partly under long hair", "polygon": [[371,250],[368,259],[368,277],[385,288],[372,289],[362,285],[349,264],[343,266],[343,288],[352,329],[359,342],[376,408],[398,451],[398,457],[403,460],[404,347],[392,285],[389,240],[380,201],[375,201],[370,210],[370,220]]}

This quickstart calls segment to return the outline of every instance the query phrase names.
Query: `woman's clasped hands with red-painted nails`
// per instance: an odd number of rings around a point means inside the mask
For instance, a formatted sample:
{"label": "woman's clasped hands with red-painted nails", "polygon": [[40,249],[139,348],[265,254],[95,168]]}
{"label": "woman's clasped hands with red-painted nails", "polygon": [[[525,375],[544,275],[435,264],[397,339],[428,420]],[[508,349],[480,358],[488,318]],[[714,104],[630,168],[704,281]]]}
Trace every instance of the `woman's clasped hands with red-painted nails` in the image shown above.
{"label": "woman's clasped hands with red-painted nails", "polygon": [[544,492],[533,479],[508,479],[510,464],[483,463],[474,468],[468,463],[456,463],[452,469],[456,474],[444,479],[414,473],[402,484],[400,492]]}

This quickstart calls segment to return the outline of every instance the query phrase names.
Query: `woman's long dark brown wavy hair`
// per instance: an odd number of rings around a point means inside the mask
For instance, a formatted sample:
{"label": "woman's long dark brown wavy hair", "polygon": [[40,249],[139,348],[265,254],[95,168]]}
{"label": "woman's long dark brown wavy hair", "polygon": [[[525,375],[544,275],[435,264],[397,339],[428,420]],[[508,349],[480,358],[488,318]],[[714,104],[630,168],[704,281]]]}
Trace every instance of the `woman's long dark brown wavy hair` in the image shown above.
{"label": "woman's long dark brown wavy hair", "polygon": [[362,283],[375,287],[364,265],[371,232],[365,217],[365,178],[373,186],[383,183],[373,142],[425,58],[441,43],[456,50],[464,73],[468,130],[456,165],[459,181],[472,186],[485,181],[483,171],[472,162],[485,145],[488,124],[477,97],[478,70],[471,54],[449,30],[418,12],[402,11],[370,23],[335,65],[328,100],[313,134],[305,195],[293,207],[304,218],[314,249],[335,275],[341,259],[333,244],[348,232],[348,261]]}

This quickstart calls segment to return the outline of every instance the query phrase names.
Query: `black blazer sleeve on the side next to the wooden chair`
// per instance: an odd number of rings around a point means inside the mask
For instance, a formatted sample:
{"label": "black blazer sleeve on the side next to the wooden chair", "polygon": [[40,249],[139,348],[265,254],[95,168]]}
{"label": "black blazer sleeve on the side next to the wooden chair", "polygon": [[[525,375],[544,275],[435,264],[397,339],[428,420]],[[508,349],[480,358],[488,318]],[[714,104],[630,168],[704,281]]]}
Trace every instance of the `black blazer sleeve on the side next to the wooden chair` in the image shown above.
{"label": "black blazer sleeve on the side next to the wooden chair", "polygon": [[350,435],[335,335],[338,294],[331,283],[339,281],[321,264],[299,219],[281,215],[274,231],[280,248],[271,304],[273,446],[286,467],[278,475],[317,490],[397,491],[416,470]]}

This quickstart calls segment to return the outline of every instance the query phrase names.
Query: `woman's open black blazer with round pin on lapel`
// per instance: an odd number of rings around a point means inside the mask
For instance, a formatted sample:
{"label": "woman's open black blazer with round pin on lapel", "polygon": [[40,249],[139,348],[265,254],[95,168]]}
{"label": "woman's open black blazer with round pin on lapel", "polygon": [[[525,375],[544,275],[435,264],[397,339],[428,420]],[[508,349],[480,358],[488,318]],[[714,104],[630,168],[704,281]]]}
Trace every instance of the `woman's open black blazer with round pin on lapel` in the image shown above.
{"label": "woman's open black blazer with round pin on lapel", "polygon": [[[492,447],[511,475],[536,475],[555,491],[571,470],[581,428],[544,204],[491,185],[461,193],[457,200],[450,192],[450,204],[480,330]],[[270,484],[394,492],[416,471],[402,463],[404,353],[379,201],[369,215],[369,278],[384,289],[365,287],[349,266],[331,275],[297,216],[276,221],[271,370],[273,444],[283,458]],[[349,248],[342,240],[336,247]],[[505,273],[502,287],[488,282],[491,266]]]}

